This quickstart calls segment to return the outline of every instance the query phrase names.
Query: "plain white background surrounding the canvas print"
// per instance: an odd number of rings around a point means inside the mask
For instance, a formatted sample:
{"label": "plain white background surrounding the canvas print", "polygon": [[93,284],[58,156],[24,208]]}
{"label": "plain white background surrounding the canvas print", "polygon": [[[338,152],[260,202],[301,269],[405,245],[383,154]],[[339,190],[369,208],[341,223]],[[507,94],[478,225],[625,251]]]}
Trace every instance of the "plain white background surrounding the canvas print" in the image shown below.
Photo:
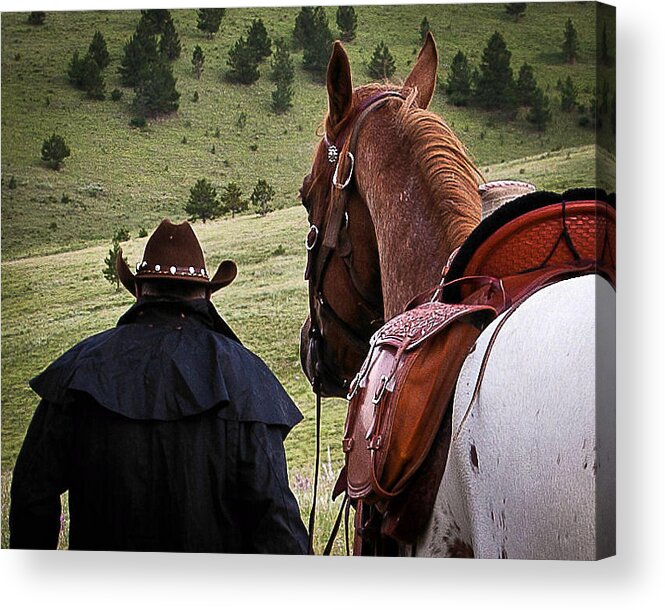
{"label": "plain white background surrounding the canvas print", "polygon": [[[304,2],[302,2],[304,3]],[[312,4],[332,4],[312,2]],[[349,2],[388,4],[390,2]],[[431,3],[431,2],[430,2]],[[294,5],[2,0],[3,11]],[[3,607],[665,607],[663,27],[661,3],[617,7],[618,555],[598,563],[0,551]]]}

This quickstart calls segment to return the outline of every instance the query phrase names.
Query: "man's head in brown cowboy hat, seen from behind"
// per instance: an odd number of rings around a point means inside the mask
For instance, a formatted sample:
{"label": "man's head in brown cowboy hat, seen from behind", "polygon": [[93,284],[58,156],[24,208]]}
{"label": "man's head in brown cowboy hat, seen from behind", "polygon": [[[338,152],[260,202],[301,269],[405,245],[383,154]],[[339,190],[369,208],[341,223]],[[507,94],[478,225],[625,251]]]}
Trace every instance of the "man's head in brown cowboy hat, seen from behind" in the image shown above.
{"label": "man's head in brown cowboy hat, seen from behind", "polygon": [[233,261],[223,261],[212,279],[205,265],[201,244],[188,222],[173,224],[164,219],[150,236],[136,275],[122,257],[116,258],[118,277],[137,298],[141,295],[169,295],[176,298],[210,298],[236,277]]}

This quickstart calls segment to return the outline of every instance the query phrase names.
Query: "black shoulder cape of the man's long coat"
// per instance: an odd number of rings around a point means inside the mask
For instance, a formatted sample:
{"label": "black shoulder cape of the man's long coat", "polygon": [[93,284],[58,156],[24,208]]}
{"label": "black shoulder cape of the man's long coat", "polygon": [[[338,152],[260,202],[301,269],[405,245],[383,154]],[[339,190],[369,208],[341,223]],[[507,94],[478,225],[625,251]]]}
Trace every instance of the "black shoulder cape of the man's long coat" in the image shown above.
{"label": "black shoulder cape of the man's long coat", "polygon": [[218,408],[218,417],[280,426],[302,415],[265,363],[243,347],[206,300],[144,298],[116,328],[85,339],[30,386],[57,404],[90,395],[136,420],[171,421]]}

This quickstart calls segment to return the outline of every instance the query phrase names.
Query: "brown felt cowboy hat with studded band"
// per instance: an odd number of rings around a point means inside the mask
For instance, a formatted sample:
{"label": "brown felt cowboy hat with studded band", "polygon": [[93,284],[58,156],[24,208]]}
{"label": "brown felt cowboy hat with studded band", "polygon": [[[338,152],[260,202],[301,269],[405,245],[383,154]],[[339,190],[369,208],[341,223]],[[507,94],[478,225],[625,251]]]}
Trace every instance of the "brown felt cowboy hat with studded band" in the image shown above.
{"label": "brown felt cowboy hat with studded band", "polygon": [[145,280],[181,280],[203,284],[215,292],[228,286],[238,273],[233,261],[222,261],[210,279],[201,244],[190,224],[173,224],[168,218],[148,239],[143,258],[136,265],[136,275],[122,257],[122,250],[115,259],[115,268],[122,284],[134,295],[136,283]]}

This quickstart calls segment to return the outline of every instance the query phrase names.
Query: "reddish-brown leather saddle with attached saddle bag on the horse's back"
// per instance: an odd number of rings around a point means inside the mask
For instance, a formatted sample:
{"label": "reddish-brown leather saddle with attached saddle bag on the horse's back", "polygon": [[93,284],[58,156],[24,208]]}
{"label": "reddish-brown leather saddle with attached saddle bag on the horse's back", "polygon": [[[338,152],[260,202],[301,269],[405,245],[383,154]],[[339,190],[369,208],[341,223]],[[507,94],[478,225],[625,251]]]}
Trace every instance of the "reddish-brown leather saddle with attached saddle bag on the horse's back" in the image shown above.
{"label": "reddish-brown leather saddle with attached saddle bag on the horse's back", "polygon": [[413,543],[424,527],[445,469],[457,377],[482,330],[554,282],[598,273],[614,286],[615,244],[613,196],[525,195],[481,222],[441,284],[374,334],[351,384],[336,486],[356,506],[354,553],[376,552],[380,537]]}

